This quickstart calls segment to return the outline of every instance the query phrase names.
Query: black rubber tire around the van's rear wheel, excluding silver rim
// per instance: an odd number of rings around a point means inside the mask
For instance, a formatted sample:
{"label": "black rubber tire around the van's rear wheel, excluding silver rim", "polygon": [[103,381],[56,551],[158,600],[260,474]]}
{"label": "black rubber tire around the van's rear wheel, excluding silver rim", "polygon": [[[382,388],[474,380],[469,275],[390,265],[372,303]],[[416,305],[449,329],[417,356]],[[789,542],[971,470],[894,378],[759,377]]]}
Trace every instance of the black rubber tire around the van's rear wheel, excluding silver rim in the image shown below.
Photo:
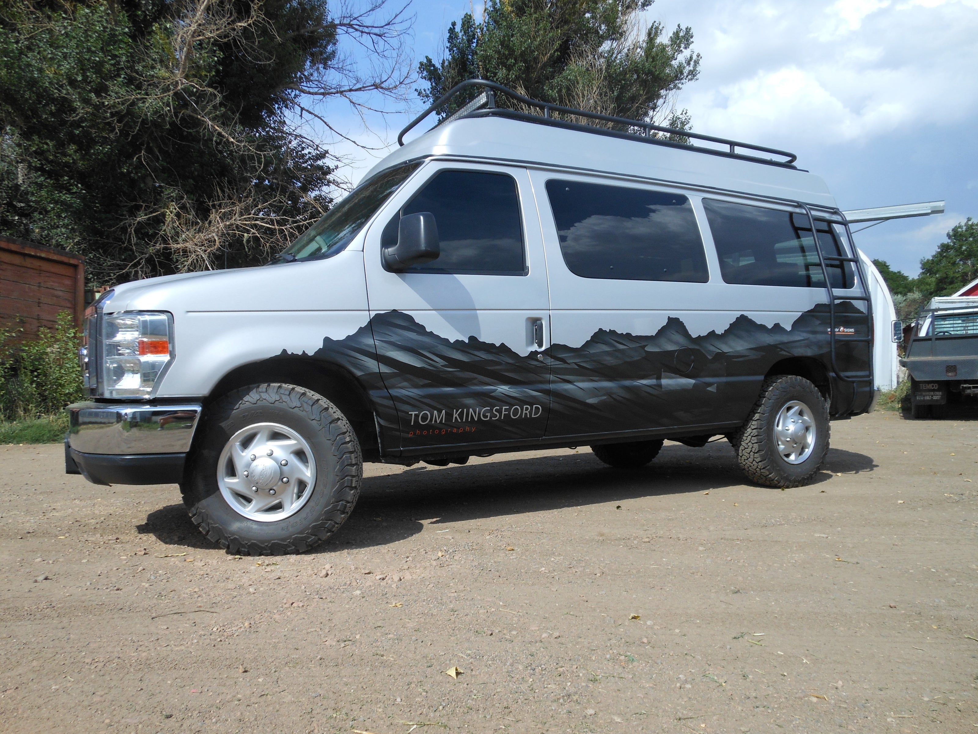
{"label": "black rubber tire around the van's rear wheel, excluding silver rim", "polygon": [[[816,424],[812,453],[800,464],[790,464],[778,453],[775,420],[778,411],[791,400],[805,403]],[[802,486],[822,467],[828,452],[828,402],[812,383],[795,375],[775,375],[764,381],[761,395],[744,424],[728,436],[737,463],[747,479],[766,486]]]}

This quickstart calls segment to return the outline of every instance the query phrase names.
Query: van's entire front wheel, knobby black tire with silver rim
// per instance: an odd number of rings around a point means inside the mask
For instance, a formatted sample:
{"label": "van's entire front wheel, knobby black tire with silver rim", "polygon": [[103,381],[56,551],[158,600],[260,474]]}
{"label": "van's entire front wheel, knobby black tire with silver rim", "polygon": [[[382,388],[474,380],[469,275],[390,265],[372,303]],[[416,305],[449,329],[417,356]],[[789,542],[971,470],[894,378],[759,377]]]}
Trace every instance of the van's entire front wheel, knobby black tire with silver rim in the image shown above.
{"label": "van's entire front wheel, knobby black tire with silver rim", "polygon": [[218,399],[181,484],[210,540],[252,556],[301,553],[330,537],[360,494],[363,455],[323,396],[255,385]]}

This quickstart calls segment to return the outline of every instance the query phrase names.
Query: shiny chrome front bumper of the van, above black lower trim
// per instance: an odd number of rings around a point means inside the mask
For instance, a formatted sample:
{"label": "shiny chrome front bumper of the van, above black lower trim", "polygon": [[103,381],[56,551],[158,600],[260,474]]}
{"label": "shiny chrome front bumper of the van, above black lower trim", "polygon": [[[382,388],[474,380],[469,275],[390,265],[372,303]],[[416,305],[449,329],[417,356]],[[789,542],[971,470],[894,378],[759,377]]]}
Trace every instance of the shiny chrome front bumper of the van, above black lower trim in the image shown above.
{"label": "shiny chrome front bumper of the van, above black lower trim", "polygon": [[88,454],[186,453],[200,410],[200,403],[77,402],[67,406],[68,445]]}

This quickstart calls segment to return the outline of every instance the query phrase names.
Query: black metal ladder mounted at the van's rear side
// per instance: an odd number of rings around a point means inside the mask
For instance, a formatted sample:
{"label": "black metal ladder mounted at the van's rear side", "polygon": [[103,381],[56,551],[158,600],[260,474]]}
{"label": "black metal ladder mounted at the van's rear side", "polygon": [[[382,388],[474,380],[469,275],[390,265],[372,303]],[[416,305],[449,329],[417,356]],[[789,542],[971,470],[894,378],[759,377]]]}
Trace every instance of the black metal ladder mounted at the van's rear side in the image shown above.
{"label": "black metal ladder mounted at the van's rear side", "polygon": [[[822,252],[822,245],[819,243],[819,231],[816,229],[815,215],[812,213],[810,206],[803,202],[799,202],[798,206],[805,210],[805,214],[808,216],[809,222],[812,224],[812,240],[815,242],[815,252],[819,254],[819,264],[822,267],[822,278],[825,282],[825,292],[828,296],[828,344],[829,344],[829,355],[830,364],[832,367],[832,374],[837,380],[843,383],[849,383],[854,386],[852,402],[850,402],[850,410],[853,407],[853,402],[855,402],[858,395],[858,387],[861,383],[869,383],[869,390],[871,391],[875,382],[873,380],[873,353],[872,353],[872,300],[869,298],[869,286],[867,283],[866,274],[863,272],[863,263],[860,262],[859,256],[856,251],[856,242],[853,240],[852,231],[849,229],[849,222],[846,220],[845,214],[842,213],[841,209],[835,208],[830,211],[830,216],[837,216],[842,225],[846,229],[846,239],[848,240],[847,246],[850,249],[849,256],[837,255],[837,254],[825,254]],[[834,216],[832,217],[834,218]],[[831,222],[829,222],[831,224]],[[831,227],[829,227],[831,229]],[[863,290],[863,296],[851,296],[851,295],[838,295],[832,289],[832,281],[828,276],[828,267],[826,263],[839,263],[840,266],[845,269],[846,262],[851,262],[853,265],[853,270],[856,271],[857,282]],[[845,279],[843,278],[843,284]],[[845,334],[839,334],[837,327],[835,325],[835,304],[840,301],[854,301],[862,300],[866,302],[866,335],[865,337],[849,337]],[[867,345],[867,367],[868,369],[860,372],[848,372],[844,373],[839,369],[838,361],[836,358],[836,344],[866,344]],[[848,412],[848,411],[847,411]]]}

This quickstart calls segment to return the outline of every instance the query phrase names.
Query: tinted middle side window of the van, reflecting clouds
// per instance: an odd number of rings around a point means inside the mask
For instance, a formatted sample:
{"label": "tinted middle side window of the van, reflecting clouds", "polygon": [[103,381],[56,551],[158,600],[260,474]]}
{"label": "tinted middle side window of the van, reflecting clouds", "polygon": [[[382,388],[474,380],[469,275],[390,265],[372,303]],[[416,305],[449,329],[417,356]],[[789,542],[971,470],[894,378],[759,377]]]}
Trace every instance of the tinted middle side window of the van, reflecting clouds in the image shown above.
{"label": "tinted middle side window of the van, reflecting clouds", "polygon": [[680,194],[552,179],[563,260],[574,275],[706,283],[706,253],[689,199]]}

